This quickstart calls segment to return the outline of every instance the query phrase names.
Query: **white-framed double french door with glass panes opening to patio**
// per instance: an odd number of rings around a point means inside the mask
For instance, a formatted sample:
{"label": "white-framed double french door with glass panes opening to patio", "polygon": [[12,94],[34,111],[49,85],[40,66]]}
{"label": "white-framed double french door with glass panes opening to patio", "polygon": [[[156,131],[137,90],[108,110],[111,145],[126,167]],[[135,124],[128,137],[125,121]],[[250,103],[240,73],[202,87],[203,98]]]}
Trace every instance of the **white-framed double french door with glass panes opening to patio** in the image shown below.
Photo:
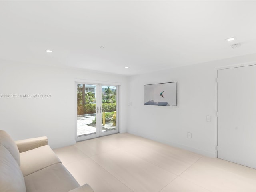
{"label": "white-framed double french door with glass panes opening to patio", "polygon": [[76,141],[118,133],[118,86],[76,83]]}

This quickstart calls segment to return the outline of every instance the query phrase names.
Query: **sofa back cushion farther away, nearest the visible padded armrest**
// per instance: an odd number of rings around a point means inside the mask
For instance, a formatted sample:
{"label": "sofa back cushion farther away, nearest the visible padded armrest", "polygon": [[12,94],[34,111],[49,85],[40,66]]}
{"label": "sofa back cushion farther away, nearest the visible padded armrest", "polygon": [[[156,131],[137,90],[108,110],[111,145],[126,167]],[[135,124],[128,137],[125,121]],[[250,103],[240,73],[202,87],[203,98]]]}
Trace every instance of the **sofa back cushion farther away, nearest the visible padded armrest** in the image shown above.
{"label": "sofa back cushion farther away, nearest the visible padded armrest", "polygon": [[20,166],[20,152],[14,140],[6,133],[4,130],[0,130],[0,145],[4,146],[13,158],[16,160],[17,164]]}

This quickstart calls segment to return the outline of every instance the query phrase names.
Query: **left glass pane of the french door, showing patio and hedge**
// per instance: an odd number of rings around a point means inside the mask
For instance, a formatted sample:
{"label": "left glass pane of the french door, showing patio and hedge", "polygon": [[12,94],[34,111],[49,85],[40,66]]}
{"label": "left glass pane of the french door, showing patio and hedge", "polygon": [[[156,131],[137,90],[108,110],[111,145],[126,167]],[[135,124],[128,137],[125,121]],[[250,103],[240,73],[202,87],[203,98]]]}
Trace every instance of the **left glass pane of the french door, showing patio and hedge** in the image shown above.
{"label": "left glass pane of the french door, showing patio and hedge", "polygon": [[96,134],[96,85],[77,84],[77,136]]}

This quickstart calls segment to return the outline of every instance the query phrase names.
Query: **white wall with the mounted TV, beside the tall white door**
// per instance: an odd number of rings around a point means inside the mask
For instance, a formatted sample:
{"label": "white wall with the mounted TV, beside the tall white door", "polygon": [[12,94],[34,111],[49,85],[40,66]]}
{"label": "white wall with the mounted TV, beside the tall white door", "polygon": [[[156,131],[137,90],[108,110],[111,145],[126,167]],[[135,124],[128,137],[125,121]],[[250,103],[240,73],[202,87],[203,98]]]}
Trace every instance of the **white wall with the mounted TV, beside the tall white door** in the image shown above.
{"label": "white wall with the mounted TV, beside the tall white door", "polygon": [[[256,61],[256,54],[129,78],[128,132],[216,157],[216,69]],[[144,105],[144,84],[177,82],[177,106]],[[212,116],[206,122],[206,116]],[[187,138],[187,132],[192,138]]]}

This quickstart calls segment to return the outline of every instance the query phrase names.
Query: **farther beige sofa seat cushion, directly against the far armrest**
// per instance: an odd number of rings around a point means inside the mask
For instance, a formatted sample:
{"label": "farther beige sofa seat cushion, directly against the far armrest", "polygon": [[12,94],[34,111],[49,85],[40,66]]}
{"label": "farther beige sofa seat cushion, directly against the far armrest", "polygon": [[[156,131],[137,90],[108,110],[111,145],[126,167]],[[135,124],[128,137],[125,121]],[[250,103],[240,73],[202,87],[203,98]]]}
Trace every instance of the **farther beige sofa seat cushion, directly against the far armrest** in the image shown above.
{"label": "farther beige sofa seat cushion, directly against the far armrest", "polygon": [[20,153],[20,168],[23,176],[57,163],[61,161],[48,145]]}

